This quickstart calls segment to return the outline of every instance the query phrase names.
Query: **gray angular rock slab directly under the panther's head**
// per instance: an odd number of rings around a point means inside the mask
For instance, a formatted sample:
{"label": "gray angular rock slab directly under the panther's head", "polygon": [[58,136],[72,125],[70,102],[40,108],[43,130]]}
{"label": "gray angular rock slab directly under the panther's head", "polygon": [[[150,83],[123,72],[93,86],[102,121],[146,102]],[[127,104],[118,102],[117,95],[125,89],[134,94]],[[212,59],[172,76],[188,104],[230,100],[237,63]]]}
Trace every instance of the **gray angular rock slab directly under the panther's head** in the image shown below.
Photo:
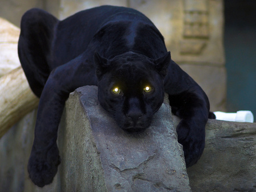
{"label": "gray angular rock slab directly under the panther's head", "polygon": [[97,87],[85,86],[69,96],[64,117],[59,133],[62,190],[190,191],[168,103],[150,128],[131,134],[101,108]]}

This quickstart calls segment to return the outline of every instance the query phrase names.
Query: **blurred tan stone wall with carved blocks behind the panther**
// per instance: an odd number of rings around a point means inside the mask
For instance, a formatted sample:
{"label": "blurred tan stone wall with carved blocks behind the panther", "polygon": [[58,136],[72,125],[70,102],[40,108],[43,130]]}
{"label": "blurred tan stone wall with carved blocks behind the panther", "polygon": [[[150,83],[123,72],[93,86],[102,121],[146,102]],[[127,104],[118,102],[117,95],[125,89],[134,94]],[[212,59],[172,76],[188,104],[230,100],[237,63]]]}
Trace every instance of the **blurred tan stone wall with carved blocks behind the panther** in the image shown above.
{"label": "blurred tan stone wall with carved blocks behind the panther", "polygon": [[64,19],[77,11],[100,5],[127,6],[142,11],[162,32],[172,59],[207,93],[212,111],[225,111],[222,0],[0,0],[0,16],[19,26],[27,9],[40,7]]}

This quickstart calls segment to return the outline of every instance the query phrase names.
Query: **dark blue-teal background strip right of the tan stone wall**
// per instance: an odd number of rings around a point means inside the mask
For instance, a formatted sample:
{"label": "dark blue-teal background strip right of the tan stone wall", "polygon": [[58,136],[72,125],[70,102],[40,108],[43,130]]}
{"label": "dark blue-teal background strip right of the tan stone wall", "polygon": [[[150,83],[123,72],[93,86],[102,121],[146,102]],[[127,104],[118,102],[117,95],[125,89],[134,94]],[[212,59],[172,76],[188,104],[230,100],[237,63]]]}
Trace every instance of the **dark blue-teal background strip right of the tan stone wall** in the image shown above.
{"label": "dark blue-teal background strip right of the tan stone wall", "polygon": [[250,110],[256,119],[256,1],[225,1],[227,110]]}

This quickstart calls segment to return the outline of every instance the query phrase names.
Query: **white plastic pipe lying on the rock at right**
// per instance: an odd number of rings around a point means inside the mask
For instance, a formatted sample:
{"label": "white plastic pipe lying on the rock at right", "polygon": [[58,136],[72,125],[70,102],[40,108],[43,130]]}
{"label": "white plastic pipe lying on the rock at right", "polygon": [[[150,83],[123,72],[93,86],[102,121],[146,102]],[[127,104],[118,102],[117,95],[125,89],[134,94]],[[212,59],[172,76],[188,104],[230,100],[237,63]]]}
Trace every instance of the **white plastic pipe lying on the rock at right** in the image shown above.
{"label": "white plastic pipe lying on the rock at right", "polygon": [[229,122],[250,122],[253,123],[253,113],[251,111],[237,112],[213,112],[218,120],[228,120]]}

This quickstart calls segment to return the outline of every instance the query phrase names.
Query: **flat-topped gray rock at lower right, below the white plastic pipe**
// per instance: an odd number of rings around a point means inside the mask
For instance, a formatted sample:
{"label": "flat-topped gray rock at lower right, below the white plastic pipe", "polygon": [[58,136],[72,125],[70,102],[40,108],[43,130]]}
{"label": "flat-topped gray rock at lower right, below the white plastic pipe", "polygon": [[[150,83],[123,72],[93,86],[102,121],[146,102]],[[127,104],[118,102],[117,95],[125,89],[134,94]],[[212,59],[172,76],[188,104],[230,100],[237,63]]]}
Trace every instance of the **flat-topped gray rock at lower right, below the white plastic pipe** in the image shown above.
{"label": "flat-topped gray rock at lower right, below the white plastic pipe", "polygon": [[[175,127],[179,122],[174,116]],[[256,191],[256,123],[209,119],[204,153],[187,169],[192,191]]]}

